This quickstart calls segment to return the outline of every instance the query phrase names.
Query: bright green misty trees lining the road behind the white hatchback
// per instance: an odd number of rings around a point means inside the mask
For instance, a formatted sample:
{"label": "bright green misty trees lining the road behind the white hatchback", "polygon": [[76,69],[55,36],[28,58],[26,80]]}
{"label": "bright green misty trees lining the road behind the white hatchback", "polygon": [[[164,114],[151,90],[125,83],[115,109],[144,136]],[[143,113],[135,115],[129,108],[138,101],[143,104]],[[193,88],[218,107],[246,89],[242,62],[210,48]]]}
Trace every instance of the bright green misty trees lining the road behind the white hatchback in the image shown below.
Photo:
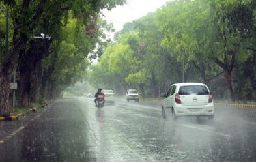
{"label": "bright green misty trees lining the road behind the white hatchback", "polygon": [[[89,81],[158,98],[172,83],[202,82],[214,100],[256,101],[256,1],[171,1],[126,23]],[[120,88],[121,91],[120,91]]]}

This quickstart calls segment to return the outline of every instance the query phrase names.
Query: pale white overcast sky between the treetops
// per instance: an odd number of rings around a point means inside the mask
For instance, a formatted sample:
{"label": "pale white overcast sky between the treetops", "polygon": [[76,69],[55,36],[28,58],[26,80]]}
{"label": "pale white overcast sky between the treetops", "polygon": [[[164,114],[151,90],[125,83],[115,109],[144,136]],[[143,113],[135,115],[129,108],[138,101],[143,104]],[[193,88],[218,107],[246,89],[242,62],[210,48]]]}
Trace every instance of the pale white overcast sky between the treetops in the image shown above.
{"label": "pale white overcast sky between the treetops", "polygon": [[[154,12],[165,5],[167,1],[172,0],[127,0],[126,5],[117,6],[112,10],[102,10],[103,19],[113,23],[115,31],[120,31],[123,25],[132,20],[137,20],[149,12]],[[113,34],[109,34],[113,38]]]}

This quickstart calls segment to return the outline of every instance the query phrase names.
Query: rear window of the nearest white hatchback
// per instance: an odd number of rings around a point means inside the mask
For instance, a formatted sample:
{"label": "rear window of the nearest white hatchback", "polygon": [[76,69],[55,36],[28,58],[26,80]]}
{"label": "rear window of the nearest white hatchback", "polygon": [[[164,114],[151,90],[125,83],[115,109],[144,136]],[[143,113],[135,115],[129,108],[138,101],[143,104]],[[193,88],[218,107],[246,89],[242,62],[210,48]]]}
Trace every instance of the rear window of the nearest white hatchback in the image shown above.
{"label": "rear window of the nearest white hatchback", "polygon": [[208,95],[208,89],[204,85],[188,85],[181,86],[179,90],[179,95]]}

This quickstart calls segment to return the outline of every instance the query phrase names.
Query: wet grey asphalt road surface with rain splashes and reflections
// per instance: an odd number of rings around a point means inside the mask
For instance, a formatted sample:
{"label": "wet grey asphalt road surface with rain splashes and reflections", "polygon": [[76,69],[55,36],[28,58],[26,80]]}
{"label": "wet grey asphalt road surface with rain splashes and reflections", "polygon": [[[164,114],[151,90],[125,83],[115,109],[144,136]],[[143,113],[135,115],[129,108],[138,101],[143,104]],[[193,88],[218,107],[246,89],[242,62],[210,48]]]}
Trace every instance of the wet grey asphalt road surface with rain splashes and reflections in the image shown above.
{"label": "wet grey asphalt road surface with rain splashes and reflections", "polygon": [[[64,98],[21,121],[0,121],[0,162],[255,162],[256,121],[216,108],[162,119],[160,106]],[[12,128],[12,132],[1,129]]]}

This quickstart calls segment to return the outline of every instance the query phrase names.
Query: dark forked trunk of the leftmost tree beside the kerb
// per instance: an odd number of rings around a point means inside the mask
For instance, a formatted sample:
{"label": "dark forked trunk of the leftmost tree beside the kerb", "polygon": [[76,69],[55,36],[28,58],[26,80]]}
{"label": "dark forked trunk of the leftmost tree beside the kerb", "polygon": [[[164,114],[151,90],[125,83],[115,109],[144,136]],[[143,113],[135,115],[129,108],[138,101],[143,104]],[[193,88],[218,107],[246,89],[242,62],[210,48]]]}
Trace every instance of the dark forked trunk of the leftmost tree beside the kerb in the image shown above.
{"label": "dark forked trunk of the leftmost tree beside the kerb", "polygon": [[[46,3],[46,0],[41,0],[38,4],[38,8],[35,11],[35,14],[33,14],[33,22],[37,22],[42,16],[42,12],[44,10],[44,4]],[[11,74],[16,68],[16,65],[18,63],[18,55],[20,52],[20,49],[23,48],[25,43],[27,42],[27,35],[23,33],[23,31],[20,31],[23,29],[23,26],[27,26],[27,23],[23,22],[23,16],[27,14],[27,9],[29,8],[30,0],[24,0],[21,5],[21,10],[19,13],[18,18],[15,18],[13,21],[14,24],[14,31],[13,31],[13,37],[12,37],[12,49],[10,50],[10,53],[8,55],[7,61],[5,65],[2,66],[0,70],[0,115],[9,115],[9,93],[10,93],[10,78]]]}

